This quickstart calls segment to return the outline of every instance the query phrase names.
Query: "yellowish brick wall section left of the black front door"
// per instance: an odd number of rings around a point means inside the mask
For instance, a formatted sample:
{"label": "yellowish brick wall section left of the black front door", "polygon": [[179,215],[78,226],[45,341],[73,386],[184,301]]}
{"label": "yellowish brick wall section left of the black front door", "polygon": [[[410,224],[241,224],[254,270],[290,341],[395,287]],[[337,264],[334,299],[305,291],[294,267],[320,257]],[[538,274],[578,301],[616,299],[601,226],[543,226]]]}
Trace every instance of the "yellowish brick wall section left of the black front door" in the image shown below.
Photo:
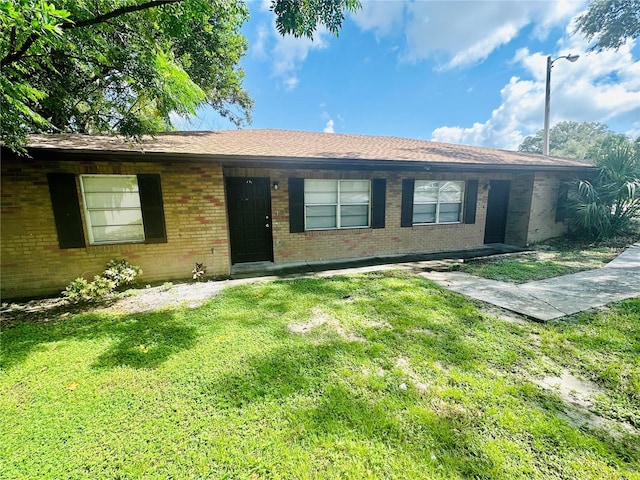
{"label": "yellowish brick wall section left of the black front door", "polygon": [[[160,174],[167,243],[60,249],[48,172]],[[188,278],[195,262],[207,265],[208,274],[228,275],[224,198],[222,168],[211,162],[156,164],[3,158],[2,297],[60,291],[78,276],[93,278],[113,258],[124,258],[142,267],[143,281]],[[88,239],[84,218],[83,224]]]}

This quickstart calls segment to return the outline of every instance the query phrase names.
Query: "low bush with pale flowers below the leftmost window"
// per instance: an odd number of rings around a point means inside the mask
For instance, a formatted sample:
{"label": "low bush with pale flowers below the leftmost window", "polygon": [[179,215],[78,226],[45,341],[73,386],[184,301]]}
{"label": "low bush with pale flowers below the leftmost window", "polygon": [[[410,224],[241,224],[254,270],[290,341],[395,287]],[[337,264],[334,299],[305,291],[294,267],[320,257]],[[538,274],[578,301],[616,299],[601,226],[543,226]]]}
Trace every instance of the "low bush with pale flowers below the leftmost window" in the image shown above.
{"label": "low bush with pale flowers below the leftmost window", "polygon": [[126,260],[111,260],[102,275],[93,277],[92,282],[78,277],[67,285],[62,295],[72,303],[101,300],[118,287],[131,284],[140,274],[142,269]]}

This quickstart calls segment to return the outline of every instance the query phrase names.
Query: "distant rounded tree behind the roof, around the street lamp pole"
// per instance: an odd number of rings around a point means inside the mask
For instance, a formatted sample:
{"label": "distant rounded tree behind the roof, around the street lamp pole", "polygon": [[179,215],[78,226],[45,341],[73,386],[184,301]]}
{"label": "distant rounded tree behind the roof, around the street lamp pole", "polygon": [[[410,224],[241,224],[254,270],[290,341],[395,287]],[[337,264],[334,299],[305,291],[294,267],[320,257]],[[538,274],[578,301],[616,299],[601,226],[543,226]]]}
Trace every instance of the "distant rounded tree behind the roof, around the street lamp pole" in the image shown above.
{"label": "distant rounded tree behind the roof, around the street lamp pole", "polygon": [[[560,122],[549,130],[549,154],[564,158],[587,158],[589,147],[613,133],[596,122]],[[518,147],[520,152],[542,153],[543,131],[530,135]]]}

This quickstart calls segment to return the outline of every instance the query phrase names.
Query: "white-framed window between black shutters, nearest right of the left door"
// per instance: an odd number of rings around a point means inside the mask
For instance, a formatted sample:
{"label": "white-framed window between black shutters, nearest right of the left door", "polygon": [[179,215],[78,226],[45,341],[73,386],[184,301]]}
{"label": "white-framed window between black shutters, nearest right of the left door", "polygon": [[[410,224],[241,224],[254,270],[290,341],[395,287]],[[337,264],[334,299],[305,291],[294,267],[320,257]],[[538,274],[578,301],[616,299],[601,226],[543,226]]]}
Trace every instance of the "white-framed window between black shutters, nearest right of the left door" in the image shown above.
{"label": "white-framed window between black shutters, nearest right of the left door", "polygon": [[369,226],[369,180],[305,180],[307,230]]}

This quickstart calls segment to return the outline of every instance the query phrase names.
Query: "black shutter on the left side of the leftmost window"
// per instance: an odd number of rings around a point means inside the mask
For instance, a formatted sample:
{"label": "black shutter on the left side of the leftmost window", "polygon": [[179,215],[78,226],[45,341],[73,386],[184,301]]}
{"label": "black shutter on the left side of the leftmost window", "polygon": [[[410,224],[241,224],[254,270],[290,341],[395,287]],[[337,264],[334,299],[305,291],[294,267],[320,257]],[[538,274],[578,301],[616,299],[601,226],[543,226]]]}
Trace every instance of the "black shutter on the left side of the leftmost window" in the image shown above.
{"label": "black shutter on the left side of the leftmost window", "polygon": [[48,173],[47,181],[60,248],[84,247],[76,176],[73,173]]}

